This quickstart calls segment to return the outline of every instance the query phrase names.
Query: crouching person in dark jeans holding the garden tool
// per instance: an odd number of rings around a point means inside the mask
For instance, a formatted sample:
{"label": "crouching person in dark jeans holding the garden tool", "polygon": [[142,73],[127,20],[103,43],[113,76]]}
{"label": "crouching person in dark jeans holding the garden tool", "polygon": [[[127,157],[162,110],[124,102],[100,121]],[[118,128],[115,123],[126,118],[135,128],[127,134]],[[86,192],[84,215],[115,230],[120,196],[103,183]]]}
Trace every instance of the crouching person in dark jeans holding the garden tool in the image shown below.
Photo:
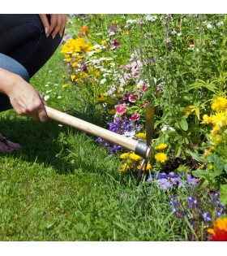
{"label": "crouching person in dark jeans holding the garden tool", "polygon": [[[66,20],[64,14],[0,15],[0,112],[13,108],[18,115],[48,119],[44,97],[29,80],[57,50]],[[0,133],[0,152],[19,147]]]}

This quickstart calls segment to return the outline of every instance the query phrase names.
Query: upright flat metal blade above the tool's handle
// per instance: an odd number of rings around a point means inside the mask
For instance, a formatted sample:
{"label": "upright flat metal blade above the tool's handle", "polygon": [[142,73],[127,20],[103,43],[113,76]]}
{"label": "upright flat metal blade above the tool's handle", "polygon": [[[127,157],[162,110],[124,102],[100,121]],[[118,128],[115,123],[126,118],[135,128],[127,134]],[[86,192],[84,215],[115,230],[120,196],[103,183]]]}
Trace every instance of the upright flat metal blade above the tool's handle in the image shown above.
{"label": "upright flat metal blade above the tool's handle", "polygon": [[155,106],[153,103],[145,110],[145,120],[146,142],[147,145],[151,145],[155,126]]}

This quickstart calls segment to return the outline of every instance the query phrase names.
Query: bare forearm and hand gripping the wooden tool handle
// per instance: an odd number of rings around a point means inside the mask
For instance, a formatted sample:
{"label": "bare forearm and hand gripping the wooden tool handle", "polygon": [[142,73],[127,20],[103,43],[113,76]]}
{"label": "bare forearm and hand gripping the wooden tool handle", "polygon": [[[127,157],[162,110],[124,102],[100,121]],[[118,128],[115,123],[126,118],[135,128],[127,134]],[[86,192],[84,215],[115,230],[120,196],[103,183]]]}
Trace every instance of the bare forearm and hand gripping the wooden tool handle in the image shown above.
{"label": "bare forearm and hand gripping the wooden tool handle", "polygon": [[[32,119],[45,122],[48,119],[45,107],[46,102],[41,93],[23,78],[8,72],[0,67],[0,92],[5,93],[11,105],[19,115],[32,117]],[[0,102],[1,104],[1,102]]]}

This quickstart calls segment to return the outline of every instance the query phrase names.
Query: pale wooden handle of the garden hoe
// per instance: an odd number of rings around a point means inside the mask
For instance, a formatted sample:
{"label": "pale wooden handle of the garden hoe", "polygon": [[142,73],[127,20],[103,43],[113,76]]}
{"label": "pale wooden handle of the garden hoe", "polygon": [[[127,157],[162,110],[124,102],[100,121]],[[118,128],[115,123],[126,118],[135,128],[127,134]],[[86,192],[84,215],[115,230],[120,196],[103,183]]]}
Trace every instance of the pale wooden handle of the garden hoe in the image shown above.
{"label": "pale wooden handle of the garden hoe", "polygon": [[[144,146],[141,141],[135,141],[131,138],[122,136],[118,133],[111,132],[105,128],[90,124],[82,119],[78,119],[72,115],[67,115],[61,111],[57,111],[49,106],[45,106],[45,110],[50,119],[54,119],[62,124],[70,125],[71,127],[78,128],[84,132],[88,132],[96,137],[102,137],[106,141],[111,141],[114,144],[121,145],[127,150],[132,150],[142,156],[143,158],[148,157],[148,147]],[[139,147],[139,150],[138,150]],[[142,150],[141,150],[142,149]]]}

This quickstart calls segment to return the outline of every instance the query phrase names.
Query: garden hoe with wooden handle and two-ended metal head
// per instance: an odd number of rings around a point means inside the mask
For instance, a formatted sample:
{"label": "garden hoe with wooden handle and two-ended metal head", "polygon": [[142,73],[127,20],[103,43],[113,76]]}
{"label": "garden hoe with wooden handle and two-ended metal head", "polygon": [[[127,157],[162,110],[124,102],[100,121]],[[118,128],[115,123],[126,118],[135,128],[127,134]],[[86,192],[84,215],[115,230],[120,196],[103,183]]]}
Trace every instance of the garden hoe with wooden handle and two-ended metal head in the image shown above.
{"label": "garden hoe with wooden handle and two-ended metal head", "polygon": [[88,132],[96,137],[102,137],[106,141],[111,141],[113,144],[121,145],[127,150],[132,150],[135,154],[138,154],[143,158],[141,167],[139,169],[139,175],[136,184],[139,184],[141,180],[143,170],[146,170],[148,165],[148,158],[152,155],[152,135],[154,131],[154,105],[151,104],[146,108],[145,120],[146,120],[146,142],[139,140],[135,141],[129,137],[125,137],[115,132],[111,132],[105,128],[96,126],[95,124],[88,123],[82,119],[78,119],[72,115],[67,115],[61,111],[57,111],[49,106],[45,106],[45,110],[50,119],[54,119],[62,124],[70,125],[73,128],[77,128],[84,132]]}

